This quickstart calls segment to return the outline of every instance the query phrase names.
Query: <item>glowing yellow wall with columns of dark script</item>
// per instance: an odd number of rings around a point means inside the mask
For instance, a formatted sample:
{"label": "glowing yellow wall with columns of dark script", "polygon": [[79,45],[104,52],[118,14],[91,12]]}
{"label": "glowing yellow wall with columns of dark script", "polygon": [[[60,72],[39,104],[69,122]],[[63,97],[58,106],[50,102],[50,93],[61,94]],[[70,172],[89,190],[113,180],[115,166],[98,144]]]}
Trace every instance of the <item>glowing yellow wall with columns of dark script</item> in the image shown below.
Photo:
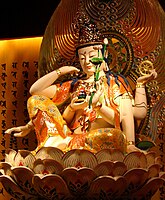
{"label": "glowing yellow wall with columns of dark script", "polygon": [[[25,125],[28,120],[29,88],[37,80],[38,56],[42,37],[0,40],[0,160],[5,151],[33,150],[35,134],[15,138],[5,134],[13,126]],[[12,199],[0,185],[0,199]]]}

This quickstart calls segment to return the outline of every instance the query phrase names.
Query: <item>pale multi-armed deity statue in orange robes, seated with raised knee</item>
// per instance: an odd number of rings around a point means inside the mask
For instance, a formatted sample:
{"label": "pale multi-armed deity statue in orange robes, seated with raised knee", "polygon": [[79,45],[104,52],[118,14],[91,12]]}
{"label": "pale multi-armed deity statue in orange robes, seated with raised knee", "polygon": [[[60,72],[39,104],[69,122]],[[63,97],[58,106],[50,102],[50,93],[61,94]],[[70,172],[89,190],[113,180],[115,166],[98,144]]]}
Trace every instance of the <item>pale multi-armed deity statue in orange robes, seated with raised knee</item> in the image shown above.
{"label": "pale multi-armed deity statue in orange robes, seated with raised knee", "polygon": [[[29,91],[29,123],[10,128],[6,133],[24,137],[34,129],[38,140],[35,151],[43,146],[63,151],[97,152],[112,147],[125,152],[138,151],[134,119],[145,118],[145,84],[155,79],[157,73],[151,70],[150,74],[139,77],[133,95],[127,79],[109,69],[105,41],[84,33],[76,50],[85,75],[79,78],[81,70],[63,66],[39,78]],[[54,84],[66,74],[77,74],[77,77]],[[63,113],[59,105],[65,105]]]}

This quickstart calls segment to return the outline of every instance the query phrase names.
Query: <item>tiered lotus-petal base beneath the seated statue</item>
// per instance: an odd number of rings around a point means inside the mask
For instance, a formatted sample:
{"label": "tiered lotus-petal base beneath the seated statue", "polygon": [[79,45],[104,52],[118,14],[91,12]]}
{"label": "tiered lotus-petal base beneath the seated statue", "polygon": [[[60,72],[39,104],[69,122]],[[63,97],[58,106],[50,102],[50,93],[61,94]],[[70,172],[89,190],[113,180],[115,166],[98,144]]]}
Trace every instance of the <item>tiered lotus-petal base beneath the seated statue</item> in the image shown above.
{"label": "tiered lotus-petal base beneath the seated statue", "polygon": [[154,152],[10,150],[0,181],[15,199],[149,200],[165,181]]}

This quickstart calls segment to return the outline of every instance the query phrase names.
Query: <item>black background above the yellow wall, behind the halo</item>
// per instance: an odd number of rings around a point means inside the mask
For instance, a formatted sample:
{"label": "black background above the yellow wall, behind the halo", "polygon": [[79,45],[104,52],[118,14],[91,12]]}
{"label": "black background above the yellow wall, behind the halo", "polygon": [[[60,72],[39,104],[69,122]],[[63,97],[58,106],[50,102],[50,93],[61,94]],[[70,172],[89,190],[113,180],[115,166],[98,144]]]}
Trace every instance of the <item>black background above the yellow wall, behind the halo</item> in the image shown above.
{"label": "black background above the yellow wall, behind the halo", "polygon": [[[60,0],[2,0],[0,39],[43,36],[59,2]],[[165,0],[159,2],[165,11]]]}

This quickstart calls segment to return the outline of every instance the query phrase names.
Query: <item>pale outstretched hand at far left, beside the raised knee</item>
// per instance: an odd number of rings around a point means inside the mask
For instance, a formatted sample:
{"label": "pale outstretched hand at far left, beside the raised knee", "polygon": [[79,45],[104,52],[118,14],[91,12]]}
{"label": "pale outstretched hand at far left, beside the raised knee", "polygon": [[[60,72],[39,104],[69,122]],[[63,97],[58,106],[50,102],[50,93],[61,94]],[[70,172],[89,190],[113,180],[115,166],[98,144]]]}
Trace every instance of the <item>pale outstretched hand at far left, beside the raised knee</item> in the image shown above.
{"label": "pale outstretched hand at far left, beside the raised knee", "polygon": [[18,126],[18,127],[7,129],[5,133],[12,134],[14,132],[15,137],[25,137],[26,135],[30,133],[31,130],[32,130],[32,126],[25,125],[25,126]]}

